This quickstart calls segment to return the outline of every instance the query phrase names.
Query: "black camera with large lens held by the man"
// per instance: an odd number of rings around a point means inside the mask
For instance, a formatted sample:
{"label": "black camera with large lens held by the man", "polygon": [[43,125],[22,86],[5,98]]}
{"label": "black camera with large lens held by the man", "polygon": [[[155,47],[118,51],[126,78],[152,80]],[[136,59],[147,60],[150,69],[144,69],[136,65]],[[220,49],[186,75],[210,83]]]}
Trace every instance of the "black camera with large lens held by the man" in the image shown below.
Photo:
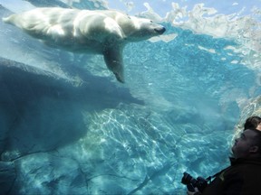
{"label": "black camera with large lens held by the man", "polygon": [[191,175],[189,175],[188,172],[183,173],[181,183],[187,185],[189,191],[195,191],[194,189],[198,188],[198,190],[202,192],[208,186],[207,180],[202,177],[198,177],[197,179],[195,179]]}

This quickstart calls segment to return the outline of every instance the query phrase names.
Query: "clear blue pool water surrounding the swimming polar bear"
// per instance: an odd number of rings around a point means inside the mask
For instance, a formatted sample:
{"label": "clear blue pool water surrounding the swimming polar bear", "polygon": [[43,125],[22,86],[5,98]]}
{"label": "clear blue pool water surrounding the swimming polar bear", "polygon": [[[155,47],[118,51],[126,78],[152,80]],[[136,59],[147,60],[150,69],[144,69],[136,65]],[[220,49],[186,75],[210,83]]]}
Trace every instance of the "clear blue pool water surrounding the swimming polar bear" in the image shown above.
{"label": "clear blue pool water surrounding the swimming polar bear", "polygon": [[236,39],[162,24],[177,37],[127,45],[121,84],[101,56],[50,49],[0,23],[0,190],[186,194],[183,172],[208,177],[228,165],[235,126],[258,109],[249,106],[258,70],[231,49]]}

